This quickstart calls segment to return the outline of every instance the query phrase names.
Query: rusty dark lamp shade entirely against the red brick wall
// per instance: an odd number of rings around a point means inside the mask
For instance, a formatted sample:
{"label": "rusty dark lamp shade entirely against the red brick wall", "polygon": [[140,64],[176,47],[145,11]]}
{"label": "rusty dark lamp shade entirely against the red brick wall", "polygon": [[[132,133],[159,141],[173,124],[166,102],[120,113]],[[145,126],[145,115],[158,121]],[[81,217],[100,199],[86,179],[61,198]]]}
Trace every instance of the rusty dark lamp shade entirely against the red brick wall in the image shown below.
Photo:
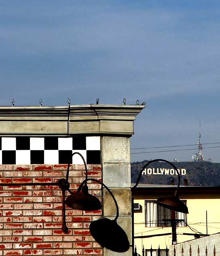
{"label": "rusty dark lamp shade entirely against the red brick wall", "polygon": [[87,185],[83,186],[81,192],[77,191],[68,196],[65,205],[81,211],[96,211],[102,208],[99,199],[89,194]]}

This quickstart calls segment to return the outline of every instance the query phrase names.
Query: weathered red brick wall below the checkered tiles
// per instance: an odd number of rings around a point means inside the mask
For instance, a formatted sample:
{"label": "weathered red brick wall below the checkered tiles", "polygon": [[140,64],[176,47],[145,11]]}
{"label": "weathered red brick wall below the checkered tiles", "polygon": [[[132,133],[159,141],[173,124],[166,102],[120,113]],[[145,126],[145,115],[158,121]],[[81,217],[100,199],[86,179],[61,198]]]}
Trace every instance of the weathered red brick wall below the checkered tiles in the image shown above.
{"label": "weathered red brick wall below the checkered tiles", "polygon": [[[100,164],[87,164],[88,177],[102,179]],[[0,165],[0,183],[56,182],[66,164]],[[85,179],[84,165],[70,167],[70,189]],[[101,185],[89,182],[89,193],[102,201]],[[66,196],[69,193],[66,192]],[[102,210],[79,211],[66,206],[68,234],[61,230],[61,189],[57,186],[0,187],[0,255],[102,255],[89,224]]]}

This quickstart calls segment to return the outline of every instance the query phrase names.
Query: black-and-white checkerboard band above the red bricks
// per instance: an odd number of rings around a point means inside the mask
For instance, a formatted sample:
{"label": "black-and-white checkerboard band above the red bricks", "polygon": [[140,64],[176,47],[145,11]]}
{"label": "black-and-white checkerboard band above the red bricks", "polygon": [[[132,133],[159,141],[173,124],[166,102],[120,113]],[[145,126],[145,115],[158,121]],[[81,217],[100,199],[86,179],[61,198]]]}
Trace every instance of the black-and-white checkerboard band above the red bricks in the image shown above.
{"label": "black-and-white checkerboard band above the red bricks", "polygon": [[[68,164],[79,152],[87,164],[100,164],[100,137],[0,137],[0,164]],[[75,154],[72,164],[83,164]]]}

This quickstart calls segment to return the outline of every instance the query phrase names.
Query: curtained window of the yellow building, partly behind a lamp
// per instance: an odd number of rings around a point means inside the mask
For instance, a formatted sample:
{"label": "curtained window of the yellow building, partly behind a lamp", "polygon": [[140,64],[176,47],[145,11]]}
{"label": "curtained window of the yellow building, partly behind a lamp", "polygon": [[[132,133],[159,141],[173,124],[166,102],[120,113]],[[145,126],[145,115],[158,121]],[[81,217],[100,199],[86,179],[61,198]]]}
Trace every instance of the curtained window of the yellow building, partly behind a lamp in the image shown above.
{"label": "curtained window of the yellow building, partly behind a lamp", "polygon": [[[183,200],[186,204],[186,200]],[[157,205],[153,200],[145,201],[145,226],[146,227],[169,227],[171,222],[165,221],[171,219],[171,210],[160,205]],[[186,226],[186,214],[181,212],[175,212],[175,218],[178,220],[184,220],[178,222],[178,227]]]}

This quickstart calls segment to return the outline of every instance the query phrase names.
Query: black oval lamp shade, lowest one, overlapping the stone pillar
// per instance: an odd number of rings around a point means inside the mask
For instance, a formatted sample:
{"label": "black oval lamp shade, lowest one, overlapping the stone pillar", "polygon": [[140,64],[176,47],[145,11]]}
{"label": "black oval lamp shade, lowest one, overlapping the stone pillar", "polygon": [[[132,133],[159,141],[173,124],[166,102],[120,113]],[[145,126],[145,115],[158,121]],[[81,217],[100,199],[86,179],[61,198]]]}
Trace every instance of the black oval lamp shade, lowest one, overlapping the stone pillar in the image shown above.
{"label": "black oval lamp shade, lowest one, overlapping the stone pillar", "polygon": [[95,241],[102,247],[114,252],[127,252],[129,250],[128,237],[116,220],[108,218],[95,220],[91,222],[89,230]]}

